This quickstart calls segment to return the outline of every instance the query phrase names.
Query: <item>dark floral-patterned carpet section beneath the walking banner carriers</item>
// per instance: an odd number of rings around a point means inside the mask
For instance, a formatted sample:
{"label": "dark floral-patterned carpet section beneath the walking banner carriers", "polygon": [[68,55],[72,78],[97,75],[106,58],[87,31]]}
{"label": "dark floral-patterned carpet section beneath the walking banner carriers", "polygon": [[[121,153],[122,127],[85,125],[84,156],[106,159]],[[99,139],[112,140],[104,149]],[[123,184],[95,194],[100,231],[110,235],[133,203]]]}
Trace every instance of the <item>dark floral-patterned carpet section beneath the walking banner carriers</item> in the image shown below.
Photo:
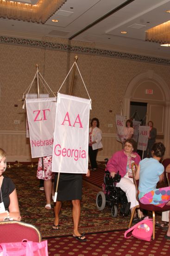
{"label": "dark floral-patterned carpet section beneath the walking banner carriers", "polygon": [[[60,229],[58,231],[51,229],[54,222],[54,213],[53,210],[44,208],[44,191],[39,190],[39,181],[36,178],[36,173],[36,168],[28,168],[27,166],[6,170],[6,175],[11,177],[16,185],[22,221],[37,226],[43,238],[71,235],[73,229],[71,202],[63,203],[60,215]],[[92,183],[83,182],[79,225],[81,233],[122,230],[128,226],[129,217],[118,216],[114,219],[111,216],[110,208],[105,207],[103,211],[96,209],[96,194],[100,190],[99,187]]]}

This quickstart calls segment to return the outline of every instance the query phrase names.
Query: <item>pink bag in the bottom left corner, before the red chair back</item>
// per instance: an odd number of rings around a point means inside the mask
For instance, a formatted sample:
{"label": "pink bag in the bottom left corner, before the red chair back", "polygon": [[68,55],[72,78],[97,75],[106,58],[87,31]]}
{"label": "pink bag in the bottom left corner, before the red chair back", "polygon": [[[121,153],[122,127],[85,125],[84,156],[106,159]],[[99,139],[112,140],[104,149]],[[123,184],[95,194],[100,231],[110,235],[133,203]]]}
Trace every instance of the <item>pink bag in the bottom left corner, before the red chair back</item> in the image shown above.
{"label": "pink bag in the bottom left corner, before the red chair back", "polygon": [[40,243],[24,239],[16,243],[0,243],[0,256],[48,256],[47,240]]}

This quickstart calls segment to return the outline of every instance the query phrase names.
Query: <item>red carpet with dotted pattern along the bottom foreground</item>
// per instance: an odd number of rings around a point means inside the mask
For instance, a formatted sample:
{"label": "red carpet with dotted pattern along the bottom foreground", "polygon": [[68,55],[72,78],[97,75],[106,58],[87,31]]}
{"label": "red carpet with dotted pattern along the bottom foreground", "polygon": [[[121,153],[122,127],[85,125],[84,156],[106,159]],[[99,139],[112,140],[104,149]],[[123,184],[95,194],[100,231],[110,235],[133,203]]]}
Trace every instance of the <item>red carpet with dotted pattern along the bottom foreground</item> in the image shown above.
{"label": "red carpet with dotted pattern along the bottom foreground", "polygon": [[48,239],[49,256],[168,256],[170,240],[164,239],[166,231],[156,227],[155,240],[151,242],[135,237],[124,238],[124,231],[86,235],[80,243],[72,236]]}

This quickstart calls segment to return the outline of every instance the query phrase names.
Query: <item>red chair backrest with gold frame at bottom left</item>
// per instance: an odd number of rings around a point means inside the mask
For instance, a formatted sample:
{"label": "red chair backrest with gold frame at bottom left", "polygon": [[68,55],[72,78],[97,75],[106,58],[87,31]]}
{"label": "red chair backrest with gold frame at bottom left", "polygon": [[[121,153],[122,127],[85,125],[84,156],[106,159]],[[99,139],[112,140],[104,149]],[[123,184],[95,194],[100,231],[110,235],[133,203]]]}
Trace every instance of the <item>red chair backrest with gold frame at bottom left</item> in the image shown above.
{"label": "red chair backrest with gold frame at bottom left", "polygon": [[0,222],[0,243],[21,242],[23,239],[40,243],[42,237],[34,225],[18,221]]}

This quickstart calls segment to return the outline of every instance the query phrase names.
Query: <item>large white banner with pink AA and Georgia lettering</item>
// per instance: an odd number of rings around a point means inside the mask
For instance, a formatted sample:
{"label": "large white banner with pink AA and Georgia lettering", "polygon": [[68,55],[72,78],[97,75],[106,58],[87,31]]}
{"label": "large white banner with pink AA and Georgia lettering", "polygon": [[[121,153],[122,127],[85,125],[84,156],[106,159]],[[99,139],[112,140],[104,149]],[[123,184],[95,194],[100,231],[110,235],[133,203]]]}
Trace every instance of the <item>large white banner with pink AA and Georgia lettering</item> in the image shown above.
{"label": "large white banner with pink AA and Georgia lettering", "polygon": [[87,173],[90,100],[57,94],[52,172]]}

